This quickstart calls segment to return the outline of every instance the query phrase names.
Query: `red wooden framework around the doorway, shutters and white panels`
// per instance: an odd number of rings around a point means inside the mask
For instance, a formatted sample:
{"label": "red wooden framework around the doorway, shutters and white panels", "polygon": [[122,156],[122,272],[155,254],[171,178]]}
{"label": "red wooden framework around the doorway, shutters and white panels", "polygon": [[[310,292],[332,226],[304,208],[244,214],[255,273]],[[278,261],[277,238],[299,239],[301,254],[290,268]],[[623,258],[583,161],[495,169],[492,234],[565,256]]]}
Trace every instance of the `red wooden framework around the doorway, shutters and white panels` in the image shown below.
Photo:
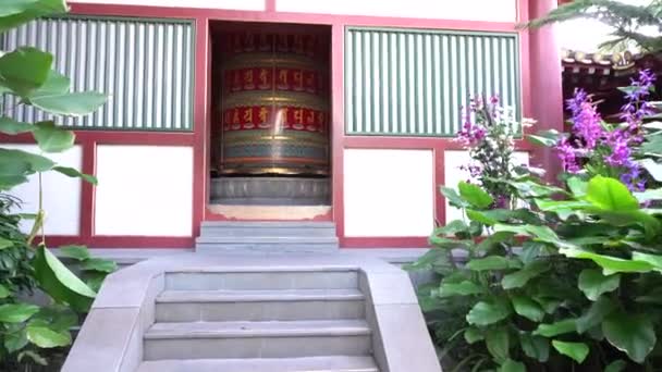
{"label": "red wooden framework around the doorway, shutters and white panels", "polygon": [[[162,8],[143,5],[117,5],[96,3],[72,3],[72,13],[110,16],[142,16],[164,18],[189,18],[195,21],[195,91],[194,91],[194,132],[193,133],[128,133],[128,132],[77,132],[77,142],[83,147],[83,171],[95,173],[96,145],[171,145],[191,146],[194,149],[193,177],[193,231],[191,237],[137,237],[137,236],[97,236],[94,234],[94,200],[95,190],[91,185],[84,184],[82,188],[81,232],[79,236],[49,237],[49,243],[87,244],[91,247],[105,248],[191,248],[194,236],[199,234],[201,221],[212,219],[207,211],[209,190],[209,134],[210,134],[210,102],[211,76],[209,26],[211,21],[262,22],[289,24],[318,24],[331,26],[331,85],[332,85],[332,218],[336,223],[338,235],[342,247],[426,247],[427,237],[345,237],[344,230],[344,193],[343,193],[343,151],[347,148],[380,148],[380,149],[429,149],[434,159],[434,213],[438,223],[445,221],[445,203],[437,188],[444,182],[444,151],[461,149],[459,145],[450,138],[414,138],[414,137],[355,137],[344,134],[344,32],[346,26],[382,26],[382,27],[416,27],[437,29],[513,32],[514,23],[477,22],[457,20],[426,20],[406,17],[381,17],[335,14],[306,14],[275,11],[277,0],[265,0],[265,11],[235,11],[220,9]],[[518,20],[528,20],[542,15],[545,10],[555,7],[556,0],[517,0]],[[552,95],[551,100],[534,102],[531,92],[540,87],[554,87],[561,84],[561,73],[556,79],[550,71],[559,59],[543,59],[553,55],[553,46],[547,45],[550,35],[536,33],[530,37],[529,30],[519,30],[520,37],[520,72],[524,113],[527,117],[536,115],[544,119],[543,127],[560,127],[562,116],[557,121],[556,111],[561,110],[561,98]],[[534,55],[534,54],[536,55]],[[552,70],[549,70],[549,69]],[[553,80],[545,83],[545,80]],[[535,90],[536,89],[536,90]],[[561,90],[559,90],[561,95]],[[535,104],[536,103],[536,104]],[[29,135],[2,136],[0,141],[33,142]],[[538,153],[524,141],[517,141],[520,150]],[[549,154],[537,156],[542,165],[552,169]]]}

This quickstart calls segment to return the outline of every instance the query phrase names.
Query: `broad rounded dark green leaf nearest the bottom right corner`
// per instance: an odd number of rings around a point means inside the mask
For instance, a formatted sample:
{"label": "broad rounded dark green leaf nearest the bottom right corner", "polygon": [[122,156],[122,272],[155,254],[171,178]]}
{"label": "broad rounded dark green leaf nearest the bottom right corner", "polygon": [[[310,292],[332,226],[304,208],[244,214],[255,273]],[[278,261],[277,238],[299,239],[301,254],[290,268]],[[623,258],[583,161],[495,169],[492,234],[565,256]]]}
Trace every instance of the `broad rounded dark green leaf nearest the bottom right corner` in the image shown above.
{"label": "broad rounded dark green leaf nearest the bottom right corner", "polygon": [[657,342],[653,323],[642,314],[612,313],[602,322],[602,332],[610,344],[637,363],[643,363]]}

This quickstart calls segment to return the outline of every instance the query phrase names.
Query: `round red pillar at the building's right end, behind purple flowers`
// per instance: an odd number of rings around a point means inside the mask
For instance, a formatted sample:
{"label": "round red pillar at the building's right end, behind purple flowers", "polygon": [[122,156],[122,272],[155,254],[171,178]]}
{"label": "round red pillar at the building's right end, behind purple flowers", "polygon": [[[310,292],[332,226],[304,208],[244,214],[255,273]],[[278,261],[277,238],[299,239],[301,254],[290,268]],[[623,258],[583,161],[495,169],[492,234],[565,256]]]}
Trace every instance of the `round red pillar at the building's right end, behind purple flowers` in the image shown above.
{"label": "round red pillar at the building's right end, behind purple flowers", "polygon": [[[557,0],[528,0],[528,18],[534,20],[555,9]],[[530,132],[542,129],[563,131],[563,87],[561,82],[561,53],[553,25],[528,30],[529,78],[525,100],[529,102],[527,117],[537,121]],[[527,82],[525,82],[527,84]],[[551,149],[539,148],[532,152],[531,165],[547,170],[547,181],[554,182],[561,172],[561,163]]]}

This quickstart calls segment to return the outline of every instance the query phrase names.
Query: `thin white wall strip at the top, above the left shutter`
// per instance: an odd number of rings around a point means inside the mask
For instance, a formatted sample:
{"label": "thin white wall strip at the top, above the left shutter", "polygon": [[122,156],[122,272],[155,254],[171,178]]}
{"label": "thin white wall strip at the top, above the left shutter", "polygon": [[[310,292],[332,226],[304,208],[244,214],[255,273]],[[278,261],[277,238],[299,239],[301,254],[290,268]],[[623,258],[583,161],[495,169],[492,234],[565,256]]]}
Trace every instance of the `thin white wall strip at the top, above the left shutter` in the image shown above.
{"label": "thin white wall strip at the top, above the left shutter", "polygon": [[[174,8],[236,9],[254,11],[265,10],[265,0],[69,0],[68,2]],[[136,16],[139,15],[140,14],[136,14]]]}

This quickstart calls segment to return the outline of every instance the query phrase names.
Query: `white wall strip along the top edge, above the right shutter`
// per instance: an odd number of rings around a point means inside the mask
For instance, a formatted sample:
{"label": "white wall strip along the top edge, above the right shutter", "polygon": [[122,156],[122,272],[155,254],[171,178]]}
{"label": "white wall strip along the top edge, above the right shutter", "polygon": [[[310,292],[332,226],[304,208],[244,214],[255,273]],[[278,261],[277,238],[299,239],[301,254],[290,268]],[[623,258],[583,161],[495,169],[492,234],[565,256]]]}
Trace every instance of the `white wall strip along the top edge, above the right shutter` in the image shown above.
{"label": "white wall strip along the top edge, above the right shutter", "polygon": [[516,0],[277,0],[281,12],[515,22]]}

